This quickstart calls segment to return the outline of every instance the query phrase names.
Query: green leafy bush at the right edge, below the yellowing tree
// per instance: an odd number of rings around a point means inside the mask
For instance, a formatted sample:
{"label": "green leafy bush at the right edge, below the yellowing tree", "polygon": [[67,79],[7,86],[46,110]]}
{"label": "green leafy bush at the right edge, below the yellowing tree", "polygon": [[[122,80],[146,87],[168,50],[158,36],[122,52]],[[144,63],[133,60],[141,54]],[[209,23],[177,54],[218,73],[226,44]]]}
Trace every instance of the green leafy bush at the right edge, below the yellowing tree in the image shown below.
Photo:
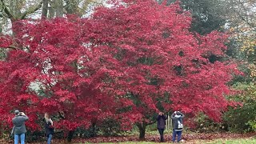
{"label": "green leafy bush at the right edge, below the yellowing tree", "polygon": [[256,131],[256,86],[254,83],[238,83],[234,88],[241,90],[241,94],[231,97],[231,99],[241,102],[242,106],[230,107],[223,115],[224,122],[230,131]]}

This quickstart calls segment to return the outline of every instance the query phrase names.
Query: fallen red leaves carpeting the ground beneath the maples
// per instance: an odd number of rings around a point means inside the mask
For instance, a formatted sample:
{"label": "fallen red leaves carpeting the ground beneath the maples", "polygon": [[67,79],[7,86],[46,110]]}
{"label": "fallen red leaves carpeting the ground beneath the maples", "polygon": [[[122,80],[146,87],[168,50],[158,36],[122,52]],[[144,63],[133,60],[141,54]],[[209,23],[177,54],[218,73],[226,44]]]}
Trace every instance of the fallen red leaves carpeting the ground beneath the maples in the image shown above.
{"label": "fallen red leaves carpeting the ground beneath the maples", "polygon": [[[197,140],[209,140],[212,141],[218,138],[232,139],[232,138],[253,138],[256,133],[250,134],[231,134],[231,133],[210,133],[210,134],[202,134],[202,133],[194,133],[194,134],[183,134],[182,141],[184,143],[194,143]],[[165,141],[171,142],[171,134],[165,134]],[[83,142],[92,142],[92,143],[100,143],[100,142],[159,142],[158,134],[150,134],[146,135],[145,139],[139,139],[138,135],[134,136],[118,136],[118,137],[97,137],[97,138],[74,138],[72,143],[83,143]],[[53,143],[65,143],[65,139],[53,139]],[[12,140],[7,142],[7,140],[0,140],[1,144],[13,143]],[[43,142],[26,142],[30,144],[41,144]]]}

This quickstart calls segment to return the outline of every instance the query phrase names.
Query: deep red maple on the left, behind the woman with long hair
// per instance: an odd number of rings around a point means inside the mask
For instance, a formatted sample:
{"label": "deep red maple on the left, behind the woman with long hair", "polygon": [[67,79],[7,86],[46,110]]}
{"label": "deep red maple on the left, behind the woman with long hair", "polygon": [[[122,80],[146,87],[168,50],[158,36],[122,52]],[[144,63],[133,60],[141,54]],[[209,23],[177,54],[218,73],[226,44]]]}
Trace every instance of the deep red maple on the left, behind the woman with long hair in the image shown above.
{"label": "deep red maple on the left, behind the woman with long hair", "polygon": [[58,115],[57,128],[72,134],[120,107],[104,90],[109,77],[100,57],[105,56],[90,46],[89,31],[82,28],[91,25],[87,21],[22,21],[14,38],[2,37],[8,49],[0,63],[3,121],[11,125],[10,112],[22,110],[30,118],[26,125],[37,130],[48,112]]}

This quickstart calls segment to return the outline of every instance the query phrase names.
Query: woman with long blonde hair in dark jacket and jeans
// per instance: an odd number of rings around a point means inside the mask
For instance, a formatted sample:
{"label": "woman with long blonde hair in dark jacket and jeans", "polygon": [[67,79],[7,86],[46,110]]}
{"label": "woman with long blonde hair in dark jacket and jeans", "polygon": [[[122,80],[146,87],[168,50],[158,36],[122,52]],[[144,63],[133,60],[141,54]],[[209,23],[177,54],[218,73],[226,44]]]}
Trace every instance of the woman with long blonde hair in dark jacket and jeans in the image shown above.
{"label": "woman with long blonde hair in dark jacket and jeans", "polygon": [[54,122],[50,119],[50,116],[48,113],[45,114],[44,125],[46,130],[47,144],[50,144],[51,138],[53,137],[53,134],[54,134]]}

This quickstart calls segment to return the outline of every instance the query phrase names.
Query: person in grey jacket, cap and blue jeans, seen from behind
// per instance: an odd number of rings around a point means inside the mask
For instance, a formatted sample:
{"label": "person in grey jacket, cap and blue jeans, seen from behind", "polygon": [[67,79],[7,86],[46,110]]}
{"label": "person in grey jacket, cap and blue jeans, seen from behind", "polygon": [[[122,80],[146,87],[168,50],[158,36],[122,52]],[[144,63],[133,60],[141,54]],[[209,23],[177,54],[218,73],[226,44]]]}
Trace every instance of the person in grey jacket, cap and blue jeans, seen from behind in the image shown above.
{"label": "person in grey jacket, cap and blue jeans, seen from behind", "polygon": [[12,119],[12,122],[14,123],[14,144],[18,144],[19,138],[21,138],[21,144],[25,144],[25,122],[29,118],[26,116],[26,114],[19,112],[18,110],[15,110],[14,114],[15,117]]}

